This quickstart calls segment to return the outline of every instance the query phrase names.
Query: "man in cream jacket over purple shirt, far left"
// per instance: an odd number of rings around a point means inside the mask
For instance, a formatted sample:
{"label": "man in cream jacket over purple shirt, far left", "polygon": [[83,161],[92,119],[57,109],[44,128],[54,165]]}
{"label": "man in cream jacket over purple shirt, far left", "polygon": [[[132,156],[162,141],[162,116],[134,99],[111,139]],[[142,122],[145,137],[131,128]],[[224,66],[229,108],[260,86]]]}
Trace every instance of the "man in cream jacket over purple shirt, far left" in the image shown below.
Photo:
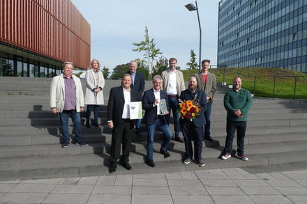
{"label": "man in cream jacket over purple shirt, far left", "polygon": [[75,144],[88,146],[81,138],[80,111],[84,111],[84,97],[81,81],[73,75],[73,63],[63,63],[63,73],[53,77],[50,86],[50,107],[52,113],[59,113],[63,135],[62,148],[68,148],[68,119],[73,120],[75,127]]}

